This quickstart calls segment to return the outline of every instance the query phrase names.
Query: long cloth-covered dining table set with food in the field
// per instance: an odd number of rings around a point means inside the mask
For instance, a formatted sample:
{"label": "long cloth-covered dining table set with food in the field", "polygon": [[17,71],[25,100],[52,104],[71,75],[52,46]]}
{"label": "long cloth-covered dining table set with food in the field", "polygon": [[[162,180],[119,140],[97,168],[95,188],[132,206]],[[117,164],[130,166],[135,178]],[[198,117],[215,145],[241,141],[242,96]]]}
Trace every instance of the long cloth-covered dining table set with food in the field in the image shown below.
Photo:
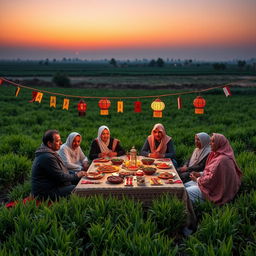
{"label": "long cloth-covered dining table set with food in the field", "polygon": [[[138,168],[141,166],[143,167],[141,163],[142,158],[144,159],[145,157],[139,156],[137,158]],[[115,159],[117,159],[117,157],[115,157]],[[81,197],[103,195],[104,197],[114,196],[121,199],[125,196],[142,202],[145,208],[149,207],[154,199],[167,193],[182,200],[190,216],[189,222],[195,221],[193,207],[188,198],[184,184],[182,183],[171,159],[155,159],[153,165],[147,165],[147,167],[156,168],[156,172],[153,175],[144,175],[145,182],[143,184],[140,184],[137,181],[138,176],[136,176],[136,171],[131,171],[129,169],[129,160],[126,159],[126,157],[120,157],[120,159],[123,159],[124,162],[119,166],[113,165],[111,159],[95,159],[92,161],[87,171],[87,176],[80,179],[73,193]],[[161,166],[165,168],[162,169]],[[106,170],[106,173],[104,173],[104,169]],[[95,175],[99,170],[103,170],[103,174],[101,173],[101,175],[97,175],[96,179],[94,179],[93,176],[90,176],[90,173]],[[111,170],[113,171],[111,172]],[[121,176],[122,173],[127,173],[129,171],[130,175],[125,176],[121,183],[113,184],[109,182],[108,177]],[[160,179],[159,177],[161,177],[161,174],[163,173],[169,173],[173,177],[171,179]],[[155,180],[157,182],[154,182]]]}

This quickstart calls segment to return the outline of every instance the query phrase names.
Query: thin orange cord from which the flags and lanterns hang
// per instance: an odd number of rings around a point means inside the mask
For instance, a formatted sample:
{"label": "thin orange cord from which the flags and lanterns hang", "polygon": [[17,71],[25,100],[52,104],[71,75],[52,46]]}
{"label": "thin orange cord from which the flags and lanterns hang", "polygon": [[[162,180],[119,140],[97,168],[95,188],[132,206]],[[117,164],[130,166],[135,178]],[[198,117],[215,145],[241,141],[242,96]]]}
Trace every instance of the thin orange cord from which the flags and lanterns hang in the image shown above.
{"label": "thin orange cord from which the flags and lanterns hang", "polygon": [[15,87],[21,87],[21,88],[25,88],[28,90],[33,90],[33,91],[38,91],[38,92],[43,92],[43,93],[48,93],[51,95],[58,95],[58,96],[64,96],[64,97],[69,97],[69,98],[83,98],[83,99],[102,99],[102,98],[108,98],[108,99],[138,99],[138,98],[159,98],[159,97],[168,97],[168,96],[175,96],[175,95],[185,95],[185,94],[192,94],[192,93],[200,93],[200,92],[207,92],[207,91],[211,91],[217,88],[222,88],[224,86],[235,86],[238,83],[244,82],[244,81],[249,81],[249,80],[254,80],[255,78],[247,78],[247,79],[243,79],[243,80],[239,80],[239,81],[235,81],[235,82],[231,82],[228,84],[224,84],[224,85],[219,85],[219,86],[214,86],[214,87],[210,87],[210,88],[206,88],[206,89],[201,89],[201,90],[194,90],[194,91],[185,91],[185,92],[177,92],[177,93],[168,93],[168,94],[161,94],[161,95],[147,95],[147,96],[127,96],[127,97],[97,97],[97,96],[80,96],[80,95],[69,95],[69,94],[63,94],[63,93],[58,93],[58,92],[50,92],[50,91],[46,91],[46,90],[40,90],[37,88],[33,88],[33,87],[29,87],[29,86],[25,86],[25,85],[21,85],[18,83],[15,83],[13,81],[10,81],[6,78],[0,77],[1,80],[14,85]]}

